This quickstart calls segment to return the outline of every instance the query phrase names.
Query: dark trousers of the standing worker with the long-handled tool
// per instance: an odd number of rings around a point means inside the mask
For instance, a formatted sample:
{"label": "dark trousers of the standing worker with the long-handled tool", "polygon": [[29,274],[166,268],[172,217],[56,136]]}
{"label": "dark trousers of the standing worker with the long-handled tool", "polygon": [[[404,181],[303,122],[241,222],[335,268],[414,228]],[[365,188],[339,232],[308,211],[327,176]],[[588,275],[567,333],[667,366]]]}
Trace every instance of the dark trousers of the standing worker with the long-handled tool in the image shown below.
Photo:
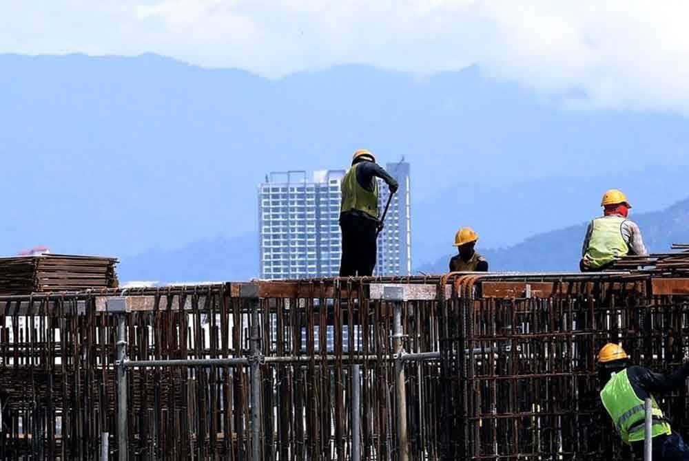
{"label": "dark trousers of the standing worker with the long-handled tool", "polygon": [[373,275],[376,267],[376,233],[378,223],[358,213],[340,215],[342,259],[340,277]]}

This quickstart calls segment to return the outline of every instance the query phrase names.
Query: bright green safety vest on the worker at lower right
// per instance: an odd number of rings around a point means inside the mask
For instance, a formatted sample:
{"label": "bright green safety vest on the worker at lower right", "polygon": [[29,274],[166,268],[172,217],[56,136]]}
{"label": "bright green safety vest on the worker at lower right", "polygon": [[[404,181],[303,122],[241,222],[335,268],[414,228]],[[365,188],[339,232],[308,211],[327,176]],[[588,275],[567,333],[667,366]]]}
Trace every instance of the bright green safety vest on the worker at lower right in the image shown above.
{"label": "bright green safety vest on the worker at lower right", "polygon": [[[608,411],[610,418],[615,422],[615,429],[625,443],[644,440],[644,400],[637,397],[629,382],[627,370],[613,374],[601,391],[603,406]],[[663,411],[651,396],[653,415],[653,437],[669,435],[672,433],[670,424],[663,416]]]}

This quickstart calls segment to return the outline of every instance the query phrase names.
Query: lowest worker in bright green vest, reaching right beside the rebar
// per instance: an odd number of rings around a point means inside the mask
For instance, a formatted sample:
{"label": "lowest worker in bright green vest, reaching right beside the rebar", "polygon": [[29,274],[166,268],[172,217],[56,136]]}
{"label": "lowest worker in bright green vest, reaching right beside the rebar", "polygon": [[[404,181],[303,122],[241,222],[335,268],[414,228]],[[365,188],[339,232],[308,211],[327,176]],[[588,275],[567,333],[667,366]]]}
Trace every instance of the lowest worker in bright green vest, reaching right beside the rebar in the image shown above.
{"label": "lowest worker in bright green vest, reaching right beside the rebar", "polygon": [[[601,401],[613,418],[622,441],[629,444],[635,459],[644,459],[644,401],[652,400],[652,450],[654,460],[689,460],[689,448],[670,428],[653,394],[679,389],[689,376],[689,363],[677,372],[664,375],[646,367],[631,365],[621,346],[608,343],[598,354],[598,377],[605,383]],[[636,457],[639,458],[636,458]]]}

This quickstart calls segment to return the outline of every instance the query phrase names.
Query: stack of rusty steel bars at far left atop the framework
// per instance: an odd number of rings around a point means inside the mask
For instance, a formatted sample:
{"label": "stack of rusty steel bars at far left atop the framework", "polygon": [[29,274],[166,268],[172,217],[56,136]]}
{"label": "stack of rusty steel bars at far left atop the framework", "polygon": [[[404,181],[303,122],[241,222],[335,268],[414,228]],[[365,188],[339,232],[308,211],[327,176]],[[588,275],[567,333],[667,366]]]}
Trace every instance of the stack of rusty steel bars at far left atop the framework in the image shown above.
{"label": "stack of rusty steel bars at far left atop the framework", "polygon": [[117,259],[52,255],[0,258],[0,294],[117,288]]}

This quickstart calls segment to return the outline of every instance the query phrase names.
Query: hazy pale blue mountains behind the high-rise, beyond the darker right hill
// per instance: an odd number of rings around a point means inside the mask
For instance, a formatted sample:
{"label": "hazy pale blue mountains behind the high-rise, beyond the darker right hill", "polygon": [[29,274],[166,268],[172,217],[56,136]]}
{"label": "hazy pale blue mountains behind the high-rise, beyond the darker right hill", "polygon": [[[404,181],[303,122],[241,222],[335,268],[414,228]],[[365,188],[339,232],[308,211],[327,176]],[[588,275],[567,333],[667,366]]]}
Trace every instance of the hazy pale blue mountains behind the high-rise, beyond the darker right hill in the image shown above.
{"label": "hazy pale blue mountains behind the high-rise, beyond the darker right hill", "polygon": [[[119,256],[123,278],[151,272],[136,261],[161,261],[146,278],[245,277],[265,174],[342,169],[360,147],[411,164],[419,268],[452,249],[459,226],[484,248],[513,248],[589,219],[610,187],[638,212],[686,195],[685,118],[571,109],[571,96],[543,98],[475,66],[416,76],[342,65],[271,80],[154,54],[0,54],[0,254],[45,245]],[[217,248],[228,255],[219,265]]]}

